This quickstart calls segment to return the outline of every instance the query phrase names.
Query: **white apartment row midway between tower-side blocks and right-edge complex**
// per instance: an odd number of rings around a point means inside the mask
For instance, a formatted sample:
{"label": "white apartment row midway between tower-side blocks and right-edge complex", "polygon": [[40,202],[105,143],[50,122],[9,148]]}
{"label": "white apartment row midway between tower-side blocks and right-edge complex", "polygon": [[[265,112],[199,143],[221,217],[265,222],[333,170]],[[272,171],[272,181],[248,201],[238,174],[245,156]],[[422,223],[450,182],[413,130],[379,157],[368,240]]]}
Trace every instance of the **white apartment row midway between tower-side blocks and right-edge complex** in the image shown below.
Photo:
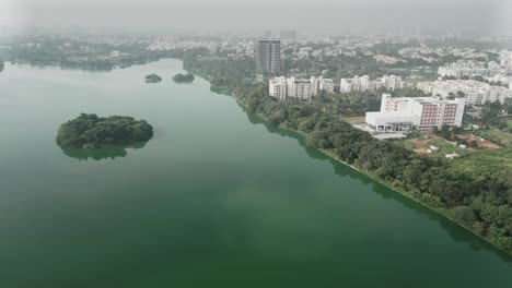
{"label": "white apartment row midway between tower-side blocks and right-edge complex", "polygon": [[405,83],[400,76],[385,75],[381,79],[371,81],[368,75],[354,76],[352,79],[341,79],[339,91],[341,93],[349,92],[375,92],[380,88],[395,91],[404,88]]}

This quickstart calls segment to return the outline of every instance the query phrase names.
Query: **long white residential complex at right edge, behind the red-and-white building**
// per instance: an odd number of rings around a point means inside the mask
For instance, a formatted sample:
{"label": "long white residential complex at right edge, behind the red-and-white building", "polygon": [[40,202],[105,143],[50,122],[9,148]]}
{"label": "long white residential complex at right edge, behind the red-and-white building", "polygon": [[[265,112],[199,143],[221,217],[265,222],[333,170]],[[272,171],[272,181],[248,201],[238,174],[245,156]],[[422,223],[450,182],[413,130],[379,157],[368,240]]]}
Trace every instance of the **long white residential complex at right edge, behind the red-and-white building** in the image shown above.
{"label": "long white residential complex at right edge, behind the red-and-white building", "polygon": [[507,98],[512,98],[512,91],[507,87],[491,86],[488,83],[474,80],[419,82],[418,89],[442,97],[463,92],[466,97],[466,104],[472,105],[482,105],[487,101],[500,101],[503,104]]}

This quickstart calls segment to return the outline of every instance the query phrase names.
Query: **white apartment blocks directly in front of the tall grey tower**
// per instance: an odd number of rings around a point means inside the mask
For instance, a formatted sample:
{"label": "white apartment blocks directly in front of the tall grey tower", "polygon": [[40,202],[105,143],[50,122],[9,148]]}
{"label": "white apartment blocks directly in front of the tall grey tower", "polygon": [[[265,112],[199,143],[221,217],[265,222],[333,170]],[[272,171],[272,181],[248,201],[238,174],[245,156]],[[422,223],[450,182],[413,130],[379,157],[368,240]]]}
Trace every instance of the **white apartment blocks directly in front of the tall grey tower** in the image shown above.
{"label": "white apartment blocks directly in front of the tall grey tower", "polygon": [[268,84],[270,96],[284,100],[294,98],[311,100],[321,91],[334,93],[334,82],[330,79],[311,77],[310,80],[296,77],[274,77]]}

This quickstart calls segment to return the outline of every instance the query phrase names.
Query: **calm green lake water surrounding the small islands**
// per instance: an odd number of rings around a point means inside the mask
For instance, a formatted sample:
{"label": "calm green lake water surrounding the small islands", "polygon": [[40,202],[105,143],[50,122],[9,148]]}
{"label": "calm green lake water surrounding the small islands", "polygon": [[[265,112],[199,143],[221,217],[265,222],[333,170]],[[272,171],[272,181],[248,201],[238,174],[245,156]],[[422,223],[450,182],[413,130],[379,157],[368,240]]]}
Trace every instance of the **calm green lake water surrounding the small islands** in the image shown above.
{"label": "calm green lake water surrounding the small islands", "polygon": [[[178,72],[5,65],[0,287],[512,287],[510,256]],[[62,151],[80,112],[155,135]]]}

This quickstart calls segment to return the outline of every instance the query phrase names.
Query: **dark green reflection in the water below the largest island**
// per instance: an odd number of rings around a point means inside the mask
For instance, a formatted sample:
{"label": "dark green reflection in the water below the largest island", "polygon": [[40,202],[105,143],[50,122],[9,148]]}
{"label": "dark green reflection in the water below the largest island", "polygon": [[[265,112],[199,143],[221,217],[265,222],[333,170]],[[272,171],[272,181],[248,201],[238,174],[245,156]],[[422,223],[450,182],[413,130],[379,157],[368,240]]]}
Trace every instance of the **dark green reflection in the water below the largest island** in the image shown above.
{"label": "dark green reflection in the water below the largest island", "polygon": [[130,145],[118,145],[118,146],[106,146],[98,149],[80,149],[80,148],[61,148],[62,153],[71,158],[79,160],[104,160],[115,159],[119,157],[126,157],[128,155],[127,149],[140,149],[146,146],[147,142],[130,144]]}

